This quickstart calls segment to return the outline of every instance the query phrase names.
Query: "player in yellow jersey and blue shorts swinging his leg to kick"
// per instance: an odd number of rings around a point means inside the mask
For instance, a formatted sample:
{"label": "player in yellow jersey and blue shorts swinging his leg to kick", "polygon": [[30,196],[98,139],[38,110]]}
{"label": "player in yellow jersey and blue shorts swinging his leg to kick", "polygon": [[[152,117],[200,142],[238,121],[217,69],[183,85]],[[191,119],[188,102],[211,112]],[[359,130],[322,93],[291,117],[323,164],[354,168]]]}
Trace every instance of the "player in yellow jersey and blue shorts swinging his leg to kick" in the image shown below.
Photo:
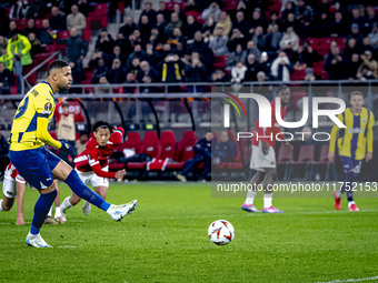
{"label": "player in yellow jersey and blue shorts swinging his leg to kick", "polygon": [[54,178],[66,182],[77,195],[106,211],[116,221],[122,220],[137,205],[137,201],[122,205],[106,202],[84,185],[76,170],[44,146],[47,144],[59,149],[73,158],[76,155],[76,150],[69,143],[52,139],[48,132],[48,123],[56,108],[53,94],[68,90],[71,82],[70,65],[62,60],[53,61],[48,68],[47,80],[34,85],[24,95],[13,118],[9,158],[20,175],[40,192],[26,239],[28,245],[34,247],[51,247],[39,232],[57,196]]}

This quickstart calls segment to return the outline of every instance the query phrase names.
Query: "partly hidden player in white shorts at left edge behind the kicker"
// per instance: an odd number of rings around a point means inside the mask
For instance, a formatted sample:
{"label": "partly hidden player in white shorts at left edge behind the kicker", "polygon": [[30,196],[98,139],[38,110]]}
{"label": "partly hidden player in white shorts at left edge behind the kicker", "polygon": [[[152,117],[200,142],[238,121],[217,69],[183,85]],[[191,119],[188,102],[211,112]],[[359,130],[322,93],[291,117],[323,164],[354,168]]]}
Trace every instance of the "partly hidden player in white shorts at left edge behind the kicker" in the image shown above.
{"label": "partly hidden player in white shorts at left edge behind the kicker", "polygon": [[23,225],[23,193],[24,193],[24,179],[17,172],[12,163],[9,163],[4,181],[2,182],[3,200],[0,200],[0,211],[9,211],[14,203],[17,196],[17,221],[16,225]]}

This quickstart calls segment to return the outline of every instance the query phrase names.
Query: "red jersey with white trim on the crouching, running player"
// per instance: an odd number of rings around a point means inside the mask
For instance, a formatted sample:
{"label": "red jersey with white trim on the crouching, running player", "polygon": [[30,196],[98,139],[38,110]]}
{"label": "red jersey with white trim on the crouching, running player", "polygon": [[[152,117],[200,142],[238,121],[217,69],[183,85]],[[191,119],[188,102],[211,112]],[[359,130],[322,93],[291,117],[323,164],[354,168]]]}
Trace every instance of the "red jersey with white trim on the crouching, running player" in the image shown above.
{"label": "red jersey with white trim on the crouching, running player", "polygon": [[103,174],[107,173],[106,175],[100,175],[102,172],[98,172],[96,166],[99,164],[101,169],[105,169],[109,165],[109,158],[116,148],[122,142],[123,134],[123,128],[117,128],[117,130],[110,134],[108,144],[103,148],[100,148],[97,144],[96,139],[91,138],[86,145],[86,150],[74,159],[76,168],[81,172],[94,171],[94,173],[99,176],[113,178],[115,173],[106,171],[102,171]]}

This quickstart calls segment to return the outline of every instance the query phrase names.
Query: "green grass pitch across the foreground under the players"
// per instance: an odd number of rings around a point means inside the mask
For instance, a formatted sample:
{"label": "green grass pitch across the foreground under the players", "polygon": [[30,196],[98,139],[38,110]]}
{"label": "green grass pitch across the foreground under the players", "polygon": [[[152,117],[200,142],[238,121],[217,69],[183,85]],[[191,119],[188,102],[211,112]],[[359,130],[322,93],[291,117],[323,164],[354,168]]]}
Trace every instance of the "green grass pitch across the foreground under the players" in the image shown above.
{"label": "green grass pitch across the foreground under the players", "polygon": [[[70,190],[60,190],[62,201]],[[66,224],[42,228],[53,249],[33,249],[24,239],[37,198],[27,188],[23,226],[16,205],[0,213],[0,282],[378,282],[377,199],[357,199],[356,213],[345,199],[336,212],[331,195],[275,199],[284,214],[252,214],[242,199],[211,198],[209,184],[113,183],[107,200],[137,199],[131,215],[118,223],[92,206],[86,216],[80,203]],[[218,219],[236,231],[225,246],[207,235]]]}

